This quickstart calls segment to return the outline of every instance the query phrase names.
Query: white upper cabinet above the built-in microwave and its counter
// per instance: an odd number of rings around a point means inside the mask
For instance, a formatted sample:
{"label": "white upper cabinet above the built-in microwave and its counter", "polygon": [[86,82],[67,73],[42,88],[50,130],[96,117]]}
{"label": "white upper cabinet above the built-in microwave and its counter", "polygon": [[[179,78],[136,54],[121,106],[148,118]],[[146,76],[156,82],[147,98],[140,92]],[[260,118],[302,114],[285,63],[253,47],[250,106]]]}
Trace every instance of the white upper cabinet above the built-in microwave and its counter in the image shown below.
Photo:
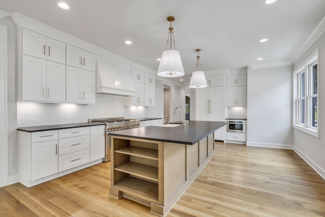
{"label": "white upper cabinet above the built-in microwave and its counter", "polygon": [[227,107],[247,106],[247,75],[227,76]]}

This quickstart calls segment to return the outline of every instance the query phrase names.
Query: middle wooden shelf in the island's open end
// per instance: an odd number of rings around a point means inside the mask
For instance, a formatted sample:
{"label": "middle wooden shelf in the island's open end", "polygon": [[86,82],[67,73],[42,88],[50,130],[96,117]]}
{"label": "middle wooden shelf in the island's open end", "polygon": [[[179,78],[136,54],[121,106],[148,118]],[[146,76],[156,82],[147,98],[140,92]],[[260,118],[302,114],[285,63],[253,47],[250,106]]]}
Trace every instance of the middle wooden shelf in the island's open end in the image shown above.
{"label": "middle wooden shelf in the island's open end", "polygon": [[129,161],[125,164],[115,167],[115,170],[143,177],[149,180],[158,181],[158,167],[152,167],[145,164]]}

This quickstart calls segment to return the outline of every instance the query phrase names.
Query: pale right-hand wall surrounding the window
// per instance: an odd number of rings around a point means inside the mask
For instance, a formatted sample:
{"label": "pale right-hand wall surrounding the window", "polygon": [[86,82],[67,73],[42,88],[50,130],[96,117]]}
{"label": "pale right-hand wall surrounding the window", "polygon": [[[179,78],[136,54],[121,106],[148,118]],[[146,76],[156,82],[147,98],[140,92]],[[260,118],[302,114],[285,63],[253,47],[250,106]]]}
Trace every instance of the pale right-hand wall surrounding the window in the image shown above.
{"label": "pale right-hand wall surrounding the window", "polygon": [[297,129],[294,130],[295,150],[307,161],[319,174],[325,178],[325,34],[296,61],[294,69],[297,69],[309,55],[318,49],[318,114],[317,127],[320,138],[316,138]]}

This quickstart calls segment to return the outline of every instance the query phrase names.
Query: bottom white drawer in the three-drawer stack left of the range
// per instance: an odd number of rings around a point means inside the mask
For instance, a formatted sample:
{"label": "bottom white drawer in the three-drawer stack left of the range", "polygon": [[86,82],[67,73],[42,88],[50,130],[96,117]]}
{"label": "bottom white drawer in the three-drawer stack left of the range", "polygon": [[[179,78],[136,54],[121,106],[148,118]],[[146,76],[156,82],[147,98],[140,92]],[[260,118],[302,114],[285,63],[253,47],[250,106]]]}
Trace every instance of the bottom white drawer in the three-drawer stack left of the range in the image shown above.
{"label": "bottom white drawer in the three-drawer stack left of the range", "polygon": [[63,154],[58,161],[59,172],[89,163],[89,149]]}

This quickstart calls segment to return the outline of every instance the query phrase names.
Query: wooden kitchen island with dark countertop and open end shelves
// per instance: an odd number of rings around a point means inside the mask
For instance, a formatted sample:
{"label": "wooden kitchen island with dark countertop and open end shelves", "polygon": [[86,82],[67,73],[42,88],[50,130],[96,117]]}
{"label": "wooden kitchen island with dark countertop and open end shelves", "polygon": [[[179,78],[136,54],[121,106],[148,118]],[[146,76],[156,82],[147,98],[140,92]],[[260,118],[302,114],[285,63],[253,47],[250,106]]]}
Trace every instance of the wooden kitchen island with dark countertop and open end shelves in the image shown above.
{"label": "wooden kitchen island with dark countertop and open end shelves", "polygon": [[110,196],[129,198],[165,216],[214,154],[223,121],[189,121],[112,131]]}

